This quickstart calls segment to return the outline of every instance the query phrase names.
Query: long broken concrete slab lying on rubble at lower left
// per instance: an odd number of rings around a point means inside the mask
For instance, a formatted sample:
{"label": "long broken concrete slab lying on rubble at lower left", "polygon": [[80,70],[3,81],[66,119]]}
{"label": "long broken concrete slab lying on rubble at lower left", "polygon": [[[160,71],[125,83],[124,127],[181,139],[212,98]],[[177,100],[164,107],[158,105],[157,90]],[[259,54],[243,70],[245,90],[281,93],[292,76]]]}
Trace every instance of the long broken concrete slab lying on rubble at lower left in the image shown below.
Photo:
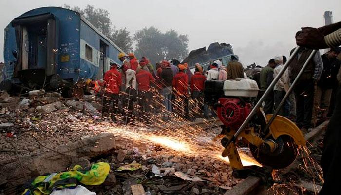
{"label": "long broken concrete slab lying on rubble at lower left", "polygon": [[6,189],[5,194],[15,193],[16,187],[36,176],[46,173],[65,171],[73,159],[91,158],[114,152],[114,134],[105,133],[79,140],[75,143],[59,146],[55,151],[23,156],[19,159],[2,160],[0,165],[6,167],[0,172],[0,185]]}

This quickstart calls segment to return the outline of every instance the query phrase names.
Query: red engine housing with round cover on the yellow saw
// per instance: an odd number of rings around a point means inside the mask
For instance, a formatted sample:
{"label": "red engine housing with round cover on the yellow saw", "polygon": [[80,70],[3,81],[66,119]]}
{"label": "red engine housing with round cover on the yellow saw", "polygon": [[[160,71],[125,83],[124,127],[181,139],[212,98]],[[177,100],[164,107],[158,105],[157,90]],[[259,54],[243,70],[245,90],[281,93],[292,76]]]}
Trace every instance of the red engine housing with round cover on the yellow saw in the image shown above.
{"label": "red engine housing with round cover on the yellow saw", "polygon": [[219,98],[219,119],[227,126],[238,129],[252,110],[252,104],[237,98]]}

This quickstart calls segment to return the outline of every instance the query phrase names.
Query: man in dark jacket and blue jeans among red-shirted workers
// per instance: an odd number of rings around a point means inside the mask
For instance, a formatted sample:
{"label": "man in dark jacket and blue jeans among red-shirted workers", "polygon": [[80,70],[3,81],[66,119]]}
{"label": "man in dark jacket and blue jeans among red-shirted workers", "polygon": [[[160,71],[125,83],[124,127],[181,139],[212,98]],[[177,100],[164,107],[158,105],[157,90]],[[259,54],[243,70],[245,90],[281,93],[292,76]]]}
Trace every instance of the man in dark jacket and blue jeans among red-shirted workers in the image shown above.
{"label": "man in dark jacket and blue jeans among red-shirted workers", "polygon": [[164,120],[168,121],[170,119],[170,114],[172,112],[171,106],[172,106],[172,93],[173,93],[173,71],[170,68],[170,63],[168,61],[162,61],[161,62],[161,83],[160,85],[162,86],[162,91],[161,94],[163,96],[163,105],[166,108],[166,112],[164,115]]}

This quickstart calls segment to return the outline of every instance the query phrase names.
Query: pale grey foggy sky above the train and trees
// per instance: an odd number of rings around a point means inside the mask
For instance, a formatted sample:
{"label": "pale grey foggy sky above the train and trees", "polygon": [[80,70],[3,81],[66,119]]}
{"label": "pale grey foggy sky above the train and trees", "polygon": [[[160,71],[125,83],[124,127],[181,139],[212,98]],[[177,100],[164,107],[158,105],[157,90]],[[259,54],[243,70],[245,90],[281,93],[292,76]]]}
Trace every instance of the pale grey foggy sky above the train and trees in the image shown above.
{"label": "pale grey foggy sky above the train and trees", "polygon": [[0,0],[0,62],[4,28],[15,17],[38,7],[64,3],[107,9],[117,28],[134,34],[155,26],[189,35],[189,51],[227,42],[244,66],[266,65],[275,55],[288,56],[300,27],[320,27],[324,11],[341,21],[341,0]]}

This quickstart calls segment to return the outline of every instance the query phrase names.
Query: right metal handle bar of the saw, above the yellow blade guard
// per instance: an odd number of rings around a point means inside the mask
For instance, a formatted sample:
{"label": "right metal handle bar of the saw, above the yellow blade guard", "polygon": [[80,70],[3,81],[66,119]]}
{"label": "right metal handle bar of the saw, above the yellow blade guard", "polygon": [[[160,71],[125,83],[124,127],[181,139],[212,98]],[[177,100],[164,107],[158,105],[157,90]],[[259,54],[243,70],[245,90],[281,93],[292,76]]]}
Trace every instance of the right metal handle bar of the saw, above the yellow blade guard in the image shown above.
{"label": "right metal handle bar of the saw, above the yellow blade guard", "polygon": [[275,117],[277,116],[278,112],[280,111],[281,107],[283,106],[285,100],[289,97],[291,91],[294,89],[294,86],[296,85],[296,82],[300,79],[300,77],[301,77],[301,75],[303,74],[303,72],[304,72],[306,66],[308,65],[309,61],[315,56],[316,52],[317,52],[317,50],[313,50],[313,51],[310,53],[308,59],[304,62],[304,65],[302,66],[302,68],[301,68],[299,74],[296,76],[294,82],[292,82],[292,84],[291,84],[291,86],[289,87],[288,91],[286,92],[284,98],[282,99],[282,101],[281,101],[281,103],[278,105],[278,107],[276,108],[276,110],[275,110],[275,112],[273,113],[273,115],[272,115],[272,117],[270,118],[270,120],[267,122],[267,124],[266,124],[266,126],[265,126],[265,128],[264,128],[263,131],[266,131],[266,130],[270,127],[271,123],[273,122],[273,120],[274,120]]}

